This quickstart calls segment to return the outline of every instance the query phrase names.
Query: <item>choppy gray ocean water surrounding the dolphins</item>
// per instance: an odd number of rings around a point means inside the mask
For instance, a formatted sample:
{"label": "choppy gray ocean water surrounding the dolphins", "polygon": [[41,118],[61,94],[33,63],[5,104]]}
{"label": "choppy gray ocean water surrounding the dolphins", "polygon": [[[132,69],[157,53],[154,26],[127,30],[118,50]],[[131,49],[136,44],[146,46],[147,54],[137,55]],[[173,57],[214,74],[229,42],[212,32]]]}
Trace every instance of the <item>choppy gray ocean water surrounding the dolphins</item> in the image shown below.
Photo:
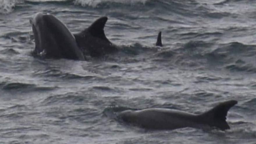
{"label": "choppy gray ocean water surrounding the dolphins", "polygon": [[[1,144],[255,144],[256,1],[0,0]],[[31,55],[29,23],[55,15],[72,32],[107,16],[120,52],[88,61]],[[163,47],[155,47],[162,31]],[[231,129],[148,131],[123,109],[201,113],[237,100]]]}

